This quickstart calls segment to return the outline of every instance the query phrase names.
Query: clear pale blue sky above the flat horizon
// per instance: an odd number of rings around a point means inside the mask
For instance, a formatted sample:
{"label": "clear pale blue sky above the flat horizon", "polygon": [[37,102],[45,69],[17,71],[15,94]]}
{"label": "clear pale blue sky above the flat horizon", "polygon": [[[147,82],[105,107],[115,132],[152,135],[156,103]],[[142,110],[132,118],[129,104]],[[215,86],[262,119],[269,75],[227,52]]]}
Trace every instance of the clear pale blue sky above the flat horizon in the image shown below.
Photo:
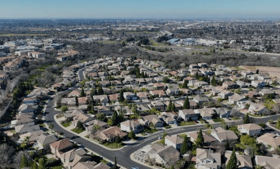
{"label": "clear pale blue sky above the flat horizon", "polygon": [[1,0],[0,18],[280,18],[279,0]]}

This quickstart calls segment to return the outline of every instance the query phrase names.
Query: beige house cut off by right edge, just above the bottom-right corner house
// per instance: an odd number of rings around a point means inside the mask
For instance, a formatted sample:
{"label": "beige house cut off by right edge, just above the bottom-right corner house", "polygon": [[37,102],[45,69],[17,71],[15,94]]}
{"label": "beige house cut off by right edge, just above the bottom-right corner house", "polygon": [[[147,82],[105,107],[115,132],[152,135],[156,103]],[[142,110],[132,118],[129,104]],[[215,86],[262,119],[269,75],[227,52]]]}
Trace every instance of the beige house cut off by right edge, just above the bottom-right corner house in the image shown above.
{"label": "beige house cut off by right edge, just above the bottom-right corner house", "polygon": [[263,143],[266,146],[270,146],[271,149],[280,146],[280,137],[274,133],[265,133],[256,138],[257,142]]}

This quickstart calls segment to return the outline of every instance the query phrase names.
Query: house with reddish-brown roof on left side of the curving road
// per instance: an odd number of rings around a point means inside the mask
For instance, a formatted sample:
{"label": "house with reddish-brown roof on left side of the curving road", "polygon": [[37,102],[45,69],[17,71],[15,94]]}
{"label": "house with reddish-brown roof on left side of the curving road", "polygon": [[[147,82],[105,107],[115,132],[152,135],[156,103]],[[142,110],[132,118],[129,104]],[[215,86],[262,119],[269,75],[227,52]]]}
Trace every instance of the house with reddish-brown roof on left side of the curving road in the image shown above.
{"label": "house with reddish-brown roof on left side of the curving road", "polygon": [[57,142],[50,144],[51,152],[58,158],[61,158],[62,154],[72,149],[73,143],[68,138],[61,139]]}

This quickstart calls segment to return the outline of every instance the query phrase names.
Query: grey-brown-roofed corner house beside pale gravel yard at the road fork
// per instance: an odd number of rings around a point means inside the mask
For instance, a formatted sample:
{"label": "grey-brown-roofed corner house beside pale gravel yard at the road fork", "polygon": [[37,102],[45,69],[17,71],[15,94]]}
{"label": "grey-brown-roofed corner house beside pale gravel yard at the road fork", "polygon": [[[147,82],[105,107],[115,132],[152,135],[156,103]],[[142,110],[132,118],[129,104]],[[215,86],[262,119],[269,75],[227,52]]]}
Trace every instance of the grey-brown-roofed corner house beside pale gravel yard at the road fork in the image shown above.
{"label": "grey-brown-roofed corner house beside pale gravel yard at the road fork", "polygon": [[151,145],[149,157],[155,159],[157,163],[171,166],[175,161],[180,159],[180,152],[171,145],[155,143]]}

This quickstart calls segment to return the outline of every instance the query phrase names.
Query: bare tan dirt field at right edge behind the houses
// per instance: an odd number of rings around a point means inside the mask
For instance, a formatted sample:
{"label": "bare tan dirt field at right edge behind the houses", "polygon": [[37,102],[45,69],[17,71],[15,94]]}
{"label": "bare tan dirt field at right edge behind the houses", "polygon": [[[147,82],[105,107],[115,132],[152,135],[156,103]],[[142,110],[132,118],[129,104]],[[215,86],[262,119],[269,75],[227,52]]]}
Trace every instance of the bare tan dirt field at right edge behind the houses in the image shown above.
{"label": "bare tan dirt field at right edge behind the houses", "polygon": [[269,76],[280,78],[280,67],[266,67],[266,66],[246,66],[242,65],[240,67],[244,67],[247,70],[255,72],[257,69],[259,73],[268,72]]}

